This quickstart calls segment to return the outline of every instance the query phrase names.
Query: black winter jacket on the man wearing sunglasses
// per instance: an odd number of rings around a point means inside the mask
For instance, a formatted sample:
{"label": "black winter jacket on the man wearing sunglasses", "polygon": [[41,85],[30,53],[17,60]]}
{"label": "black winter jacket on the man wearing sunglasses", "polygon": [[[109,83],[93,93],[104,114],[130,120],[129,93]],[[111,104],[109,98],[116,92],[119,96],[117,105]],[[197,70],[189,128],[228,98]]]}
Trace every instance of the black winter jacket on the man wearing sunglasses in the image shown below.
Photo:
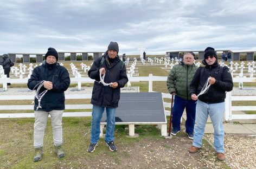
{"label": "black winter jacket on the man wearing sunglasses", "polygon": [[221,70],[217,62],[212,66],[206,65],[206,67],[199,67],[197,69],[190,84],[190,95],[198,95],[209,76],[214,77],[216,81],[214,85],[210,86],[207,93],[200,95],[198,99],[206,103],[224,102],[226,92],[230,92],[233,89],[233,80],[228,67],[225,66]]}

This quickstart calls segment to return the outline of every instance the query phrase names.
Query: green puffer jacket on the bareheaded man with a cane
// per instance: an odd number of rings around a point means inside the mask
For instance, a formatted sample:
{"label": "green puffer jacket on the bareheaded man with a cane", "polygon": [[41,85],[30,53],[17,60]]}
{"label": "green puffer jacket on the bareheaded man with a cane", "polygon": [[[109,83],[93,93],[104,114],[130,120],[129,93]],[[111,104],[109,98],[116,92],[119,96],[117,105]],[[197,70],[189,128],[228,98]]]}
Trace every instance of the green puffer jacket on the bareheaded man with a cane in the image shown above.
{"label": "green puffer jacket on the bareheaded man with a cane", "polygon": [[175,92],[177,96],[185,100],[191,100],[190,83],[196,73],[198,67],[187,65],[183,62],[176,64],[170,71],[167,78],[167,88],[169,93]]}

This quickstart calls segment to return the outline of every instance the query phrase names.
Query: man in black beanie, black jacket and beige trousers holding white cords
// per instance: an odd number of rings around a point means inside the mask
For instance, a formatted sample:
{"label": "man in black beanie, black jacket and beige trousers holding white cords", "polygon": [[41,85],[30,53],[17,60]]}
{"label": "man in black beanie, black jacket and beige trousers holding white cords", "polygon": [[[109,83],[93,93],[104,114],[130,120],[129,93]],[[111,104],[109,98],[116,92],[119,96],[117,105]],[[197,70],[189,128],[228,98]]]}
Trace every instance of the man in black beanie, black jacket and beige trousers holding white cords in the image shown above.
{"label": "man in black beanie, black jacket and beige trousers holding white cords", "polygon": [[70,78],[65,67],[57,63],[58,53],[54,48],[48,48],[46,60],[33,70],[28,80],[28,88],[36,90],[35,124],[33,161],[40,161],[43,155],[43,137],[48,115],[50,114],[53,128],[54,152],[58,158],[65,157],[62,150],[62,114],[65,109],[64,92],[68,89]]}

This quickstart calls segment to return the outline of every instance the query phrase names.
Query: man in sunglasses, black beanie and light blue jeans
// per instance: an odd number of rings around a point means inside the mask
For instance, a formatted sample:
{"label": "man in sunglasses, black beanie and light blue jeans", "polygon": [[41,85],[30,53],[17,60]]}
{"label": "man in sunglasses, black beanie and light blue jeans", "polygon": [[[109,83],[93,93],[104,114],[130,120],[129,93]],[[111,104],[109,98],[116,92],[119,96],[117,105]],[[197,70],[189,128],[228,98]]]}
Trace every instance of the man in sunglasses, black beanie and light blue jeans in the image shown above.
{"label": "man in sunglasses, black beanie and light blue jeans", "polygon": [[[190,153],[196,153],[201,149],[202,137],[208,115],[214,128],[214,147],[218,160],[225,160],[224,154],[224,129],[222,118],[225,112],[226,92],[233,89],[233,80],[228,67],[221,67],[217,62],[217,55],[212,47],[204,50],[205,67],[197,69],[190,84],[192,100],[197,100],[196,121],[194,129],[193,146]],[[204,84],[210,86],[205,87]]]}

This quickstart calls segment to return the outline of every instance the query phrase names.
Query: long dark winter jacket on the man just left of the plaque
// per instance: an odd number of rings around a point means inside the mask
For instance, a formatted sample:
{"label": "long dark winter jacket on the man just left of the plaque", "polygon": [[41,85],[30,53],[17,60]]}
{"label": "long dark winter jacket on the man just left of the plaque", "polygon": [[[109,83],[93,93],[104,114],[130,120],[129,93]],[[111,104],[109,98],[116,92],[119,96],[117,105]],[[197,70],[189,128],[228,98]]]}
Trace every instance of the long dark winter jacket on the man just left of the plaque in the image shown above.
{"label": "long dark winter jacket on the man just left of the plaque", "polygon": [[[101,57],[99,57],[93,62],[91,69],[88,71],[89,77],[95,80],[91,103],[101,107],[117,108],[120,100],[120,88],[124,87],[128,81],[126,67],[118,56],[111,65],[107,61],[107,53],[105,53],[103,57],[105,57],[103,64],[100,65]],[[123,64],[123,67],[121,67],[120,64]],[[106,70],[104,82],[117,82],[117,88],[113,89],[110,86],[104,86],[102,83],[99,83],[99,69],[103,67]]]}

